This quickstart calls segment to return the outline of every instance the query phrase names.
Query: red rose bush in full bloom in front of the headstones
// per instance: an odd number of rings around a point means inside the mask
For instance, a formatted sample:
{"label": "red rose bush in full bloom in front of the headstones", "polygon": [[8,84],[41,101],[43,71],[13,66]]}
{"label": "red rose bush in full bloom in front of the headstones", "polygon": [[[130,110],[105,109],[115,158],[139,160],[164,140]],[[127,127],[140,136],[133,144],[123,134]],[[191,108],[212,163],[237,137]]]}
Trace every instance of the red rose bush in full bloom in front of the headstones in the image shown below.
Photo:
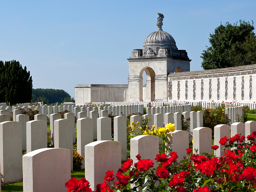
{"label": "red rose bush in full bloom in front of the headstones", "polygon": [[[176,152],[168,156],[157,154],[155,162],[137,155],[137,163],[128,159],[115,175],[113,171],[106,172],[96,192],[256,191],[256,132],[247,137],[238,134],[230,139],[224,137],[219,143],[224,150],[221,157],[193,154],[192,149],[186,150],[188,155],[180,162]],[[213,150],[218,148],[212,146]],[[66,187],[70,192],[92,191],[86,179],[72,178]]]}

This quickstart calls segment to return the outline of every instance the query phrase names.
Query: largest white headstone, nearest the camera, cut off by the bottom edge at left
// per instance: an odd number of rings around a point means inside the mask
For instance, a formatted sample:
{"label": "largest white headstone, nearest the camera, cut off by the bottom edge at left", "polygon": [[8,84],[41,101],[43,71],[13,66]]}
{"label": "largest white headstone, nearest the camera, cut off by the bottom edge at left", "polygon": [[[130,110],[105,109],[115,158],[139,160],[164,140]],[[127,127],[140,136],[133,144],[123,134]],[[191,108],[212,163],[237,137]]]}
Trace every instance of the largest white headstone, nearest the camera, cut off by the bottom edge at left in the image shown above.
{"label": "largest white headstone, nearest the camera, cut off by the bottom edge at left", "polygon": [[22,159],[24,192],[67,191],[65,183],[71,178],[70,150],[37,149]]}

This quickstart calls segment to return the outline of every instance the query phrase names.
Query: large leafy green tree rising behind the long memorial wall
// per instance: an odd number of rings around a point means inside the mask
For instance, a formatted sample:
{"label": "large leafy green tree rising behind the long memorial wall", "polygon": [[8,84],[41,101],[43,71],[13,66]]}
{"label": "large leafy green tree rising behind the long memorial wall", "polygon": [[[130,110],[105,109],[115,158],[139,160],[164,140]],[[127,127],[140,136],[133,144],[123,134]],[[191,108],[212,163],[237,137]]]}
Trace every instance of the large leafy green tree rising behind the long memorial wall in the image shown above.
{"label": "large leafy green tree rising behind the long memorial wall", "polygon": [[210,34],[201,58],[204,69],[217,69],[256,64],[256,36],[253,22],[239,21],[220,25]]}

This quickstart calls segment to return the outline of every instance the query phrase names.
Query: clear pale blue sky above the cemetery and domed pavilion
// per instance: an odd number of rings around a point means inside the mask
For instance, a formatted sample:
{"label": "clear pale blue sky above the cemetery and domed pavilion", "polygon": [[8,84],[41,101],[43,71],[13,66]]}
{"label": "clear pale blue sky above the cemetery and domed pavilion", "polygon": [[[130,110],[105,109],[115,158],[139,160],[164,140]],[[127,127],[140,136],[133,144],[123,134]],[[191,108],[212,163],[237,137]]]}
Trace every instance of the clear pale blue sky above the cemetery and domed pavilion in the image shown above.
{"label": "clear pale blue sky above the cemetery and domed pavilion", "polygon": [[256,21],[255,0],[2,0],[0,8],[0,60],[27,66],[33,88],[71,97],[76,84],[128,84],[127,58],[156,31],[157,12],[191,71],[202,70],[201,53],[221,22]]}

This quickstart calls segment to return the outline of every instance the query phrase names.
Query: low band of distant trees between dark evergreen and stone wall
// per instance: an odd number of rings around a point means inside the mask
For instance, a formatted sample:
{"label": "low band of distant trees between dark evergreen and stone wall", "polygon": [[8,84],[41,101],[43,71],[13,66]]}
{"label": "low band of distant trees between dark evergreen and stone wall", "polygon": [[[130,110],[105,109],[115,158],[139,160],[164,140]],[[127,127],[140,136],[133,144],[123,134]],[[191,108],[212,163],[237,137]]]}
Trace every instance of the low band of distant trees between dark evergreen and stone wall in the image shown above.
{"label": "low band of distant trees between dark evergreen and stone wall", "polygon": [[62,103],[71,96],[62,89],[32,89],[32,102],[44,101],[44,104]]}

